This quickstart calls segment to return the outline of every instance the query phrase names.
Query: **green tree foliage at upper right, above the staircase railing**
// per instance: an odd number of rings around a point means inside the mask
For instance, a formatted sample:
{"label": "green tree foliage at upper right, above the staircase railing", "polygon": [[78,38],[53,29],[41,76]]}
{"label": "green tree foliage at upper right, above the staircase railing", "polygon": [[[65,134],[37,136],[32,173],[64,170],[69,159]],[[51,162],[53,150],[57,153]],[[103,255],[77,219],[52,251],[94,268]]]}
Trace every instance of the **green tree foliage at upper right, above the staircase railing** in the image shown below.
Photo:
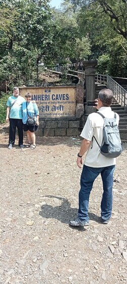
{"label": "green tree foliage at upper right, above the staircase railing", "polygon": [[71,2],[77,8],[80,34],[91,42],[89,59],[98,59],[97,72],[126,77],[126,1]]}

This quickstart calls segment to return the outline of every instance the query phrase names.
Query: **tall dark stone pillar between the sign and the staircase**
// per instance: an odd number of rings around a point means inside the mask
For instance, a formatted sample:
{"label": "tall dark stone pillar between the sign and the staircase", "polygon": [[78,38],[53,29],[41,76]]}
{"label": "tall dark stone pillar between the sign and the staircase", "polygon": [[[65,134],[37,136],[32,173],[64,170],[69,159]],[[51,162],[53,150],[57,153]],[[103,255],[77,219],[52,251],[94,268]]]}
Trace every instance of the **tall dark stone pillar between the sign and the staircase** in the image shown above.
{"label": "tall dark stone pillar between the sign and the staircase", "polygon": [[85,67],[85,121],[89,114],[96,112],[93,107],[87,106],[87,101],[95,100],[95,72],[97,60],[83,61]]}

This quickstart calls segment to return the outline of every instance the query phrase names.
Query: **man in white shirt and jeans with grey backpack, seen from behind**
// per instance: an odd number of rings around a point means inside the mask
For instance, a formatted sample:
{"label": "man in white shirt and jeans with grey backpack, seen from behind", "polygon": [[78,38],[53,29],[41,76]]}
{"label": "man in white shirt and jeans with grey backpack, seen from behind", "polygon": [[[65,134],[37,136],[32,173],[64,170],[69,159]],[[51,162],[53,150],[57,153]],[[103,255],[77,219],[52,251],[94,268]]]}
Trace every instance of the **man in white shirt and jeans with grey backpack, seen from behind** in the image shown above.
{"label": "man in white shirt and jeans with grey backpack, seen from behind", "polygon": [[[108,224],[111,218],[113,172],[116,163],[115,157],[122,152],[118,131],[119,116],[118,114],[114,115],[114,112],[112,112],[110,108],[112,101],[113,92],[110,89],[101,89],[98,100],[96,100],[96,108],[99,112],[92,113],[88,116],[81,133],[81,137],[84,139],[77,158],[79,168],[81,168],[82,165],[82,156],[86,151],[87,154],[81,174],[78,217],[70,221],[71,226],[89,226],[89,197],[93,182],[99,173],[101,174],[103,182],[101,222]],[[106,144],[107,141],[108,145]]]}

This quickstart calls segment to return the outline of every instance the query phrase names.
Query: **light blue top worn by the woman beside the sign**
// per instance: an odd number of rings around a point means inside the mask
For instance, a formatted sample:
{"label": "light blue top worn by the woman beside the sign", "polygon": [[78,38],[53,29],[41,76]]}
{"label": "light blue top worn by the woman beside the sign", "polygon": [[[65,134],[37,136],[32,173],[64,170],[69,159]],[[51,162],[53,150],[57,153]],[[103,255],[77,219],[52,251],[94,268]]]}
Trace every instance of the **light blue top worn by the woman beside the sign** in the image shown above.
{"label": "light blue top worn by the woman beside the sign", "polygon": [[[28,110],[28,114],[27,114],[27,110]],[[38,107],[36,105],[36,103],[27,103],[26,101],[23,103],[22,105],[22,111],[23,111],[23,123],[26,124],[27,122],[27,117],[28,115],[30,117],[34,117],[35,116],[35,121],[36,121],[36,116],[39,116],[39,111],[38,111]]]}

